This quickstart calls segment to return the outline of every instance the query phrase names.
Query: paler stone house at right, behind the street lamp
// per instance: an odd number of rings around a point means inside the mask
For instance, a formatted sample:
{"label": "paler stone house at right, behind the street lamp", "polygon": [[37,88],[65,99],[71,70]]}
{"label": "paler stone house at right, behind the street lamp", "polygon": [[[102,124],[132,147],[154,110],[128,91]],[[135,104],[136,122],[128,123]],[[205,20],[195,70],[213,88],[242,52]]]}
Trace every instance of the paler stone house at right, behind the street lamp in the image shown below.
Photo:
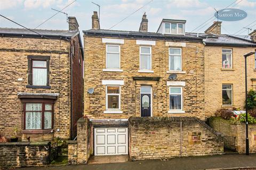
{"label": "paler stone house at right, behind the street lamp", "polygon": [[[205,33],[205,116],[220,108],[245,106],[244,54],[255,52],[254,30],[249,36],[221,34],[221,22],[214,22]],[[250,37],[251,36],[251,37]],[[247,57],[247,87],[256,90],[256,56]]]}

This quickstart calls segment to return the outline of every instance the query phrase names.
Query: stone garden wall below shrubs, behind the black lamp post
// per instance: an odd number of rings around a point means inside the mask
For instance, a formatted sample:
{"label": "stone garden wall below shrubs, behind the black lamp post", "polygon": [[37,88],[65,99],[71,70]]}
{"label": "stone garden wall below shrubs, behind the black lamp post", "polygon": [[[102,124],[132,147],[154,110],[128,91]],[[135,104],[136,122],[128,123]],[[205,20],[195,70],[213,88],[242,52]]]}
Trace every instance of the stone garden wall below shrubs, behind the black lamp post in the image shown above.
{"label": "stone garden wall below shrubs, behind the black lamp post", "polygon": [[[230,148],[228,139],[234,139],[234,149],[239,153],[245,153],[246,126],[239,121],[224,120],[221,117],[209,118],[209,125],[224,135],[224,146]],[[256,124],[248,126],[249,148],[251,153],[256,152]]]}

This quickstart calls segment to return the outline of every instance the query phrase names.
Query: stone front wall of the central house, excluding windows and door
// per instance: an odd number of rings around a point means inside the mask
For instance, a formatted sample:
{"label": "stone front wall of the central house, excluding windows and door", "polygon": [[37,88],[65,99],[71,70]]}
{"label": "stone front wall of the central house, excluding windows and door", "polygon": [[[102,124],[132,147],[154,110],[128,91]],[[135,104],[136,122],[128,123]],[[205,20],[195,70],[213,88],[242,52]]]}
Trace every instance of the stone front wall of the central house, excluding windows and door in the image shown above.
{"label": "stone front wall of the central house, excluding windows and door", "polygon": [[[121,44],[121,69],[123,72],[103,72],[106,69],[106,44],[100,37],[84,36],[84,114],[92,118],[129,118],[140,116],[140,86],[153,88],[153,116],[196,116],[204,119],[204,56],[202,43],[186,43],[182,47],[182,67],[185,74],[178,74],[175,81],[185,81],[183,109],[185,114],[170,114],[169,87],[166,81],[169,70],[169,47],[165,41],[156,40],[152,46],[152,70],[154,73],[139,73],[139,47],[135,39],[124,39]],[[173,45],[172,45],[173,44]],[[196,53],[197,51],[197,53]],[[132,77],[160,77],[159,81],[135,82]],[[121,110],[123,114],[103,114],[106,110],[106,86],[102,80],[124,80],[121,86]],[[94,94],[87,89],[94,88]]]}

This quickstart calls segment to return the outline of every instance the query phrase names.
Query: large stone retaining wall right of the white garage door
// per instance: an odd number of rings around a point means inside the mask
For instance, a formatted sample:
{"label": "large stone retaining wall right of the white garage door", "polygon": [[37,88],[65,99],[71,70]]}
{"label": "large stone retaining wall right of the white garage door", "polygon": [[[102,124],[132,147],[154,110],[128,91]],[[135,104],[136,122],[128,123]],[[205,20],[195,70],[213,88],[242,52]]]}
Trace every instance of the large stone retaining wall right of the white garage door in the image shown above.
{"label": "large stone retaining wall right of the white garage door", "polygon": [[196,117],[130,117],[131,160],[223,154],[223,137]]}

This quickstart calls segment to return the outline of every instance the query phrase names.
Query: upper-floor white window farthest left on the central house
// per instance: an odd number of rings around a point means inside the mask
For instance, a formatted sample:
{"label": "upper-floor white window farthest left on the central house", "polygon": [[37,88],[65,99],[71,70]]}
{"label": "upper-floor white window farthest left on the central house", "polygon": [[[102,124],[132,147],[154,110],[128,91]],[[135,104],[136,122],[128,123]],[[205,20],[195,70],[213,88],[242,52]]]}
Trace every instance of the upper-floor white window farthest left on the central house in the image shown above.
{"label": "upper-floor white window farthest left on the central house", "polygon": [[106,46],[106,69],[120,69],[120,46]]}

